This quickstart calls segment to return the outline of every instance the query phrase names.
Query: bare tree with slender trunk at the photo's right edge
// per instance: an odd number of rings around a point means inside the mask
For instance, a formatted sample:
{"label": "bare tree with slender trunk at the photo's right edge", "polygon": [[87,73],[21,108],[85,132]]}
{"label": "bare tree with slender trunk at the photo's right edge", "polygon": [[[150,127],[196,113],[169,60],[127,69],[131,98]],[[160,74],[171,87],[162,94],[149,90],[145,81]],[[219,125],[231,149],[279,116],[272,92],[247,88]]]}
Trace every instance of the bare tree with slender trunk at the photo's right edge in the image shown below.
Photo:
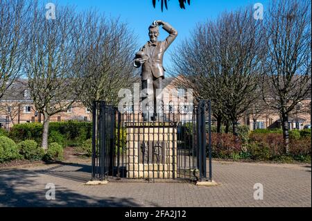
{"label": "bare tree with slender trunk at the photo's right edge", "polygon": [[281,115],[288,152],[288,114],[311,97],[311,1],[272,1],[266,15],[263,100]]}

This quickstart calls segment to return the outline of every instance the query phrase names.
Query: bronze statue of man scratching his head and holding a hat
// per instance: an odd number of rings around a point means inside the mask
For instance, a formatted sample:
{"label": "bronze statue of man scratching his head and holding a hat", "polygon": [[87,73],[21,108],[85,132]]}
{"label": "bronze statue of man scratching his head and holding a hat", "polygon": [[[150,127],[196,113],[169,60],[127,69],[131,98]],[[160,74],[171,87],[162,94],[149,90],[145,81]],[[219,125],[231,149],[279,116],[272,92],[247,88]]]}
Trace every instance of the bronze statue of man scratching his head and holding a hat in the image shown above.
{"label": "bronze statue of man scratching his head and holding a hat", "polygon": [[[159,36],[159,26],[162,26],[169,36],[164,41],[157,41]],[[164,79],[164,67],[162,66],[162,60],[164,52],[168,46],[177,37],[177,30],[170,24],[164,21],[154,21],[152,25],[148,27],[148,35],[150,40],[140,49],[135,55],[133,65],[137,68],[142,67],[141,70],[141,87],[143,91],[147,91],[142,104],[148,103],[146,99],[153,98],[153,115],[144,111],[146,107],[142,106],[144,121],[155,120],[157,116],[157,89],[163,89],[162,80]]]}

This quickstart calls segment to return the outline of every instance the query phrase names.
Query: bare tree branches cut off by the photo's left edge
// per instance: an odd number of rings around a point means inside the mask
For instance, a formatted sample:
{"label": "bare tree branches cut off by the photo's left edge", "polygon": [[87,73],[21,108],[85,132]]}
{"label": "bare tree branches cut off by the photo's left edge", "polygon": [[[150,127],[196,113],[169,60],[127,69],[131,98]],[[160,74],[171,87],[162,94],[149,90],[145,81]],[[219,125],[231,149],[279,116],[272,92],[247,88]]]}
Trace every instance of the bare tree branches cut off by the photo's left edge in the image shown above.
{"label": "bare tree branches cut off by the photo's left edge", "polygon": [[0,1],[0,98],[21,75],[27,12],[24,0]]}

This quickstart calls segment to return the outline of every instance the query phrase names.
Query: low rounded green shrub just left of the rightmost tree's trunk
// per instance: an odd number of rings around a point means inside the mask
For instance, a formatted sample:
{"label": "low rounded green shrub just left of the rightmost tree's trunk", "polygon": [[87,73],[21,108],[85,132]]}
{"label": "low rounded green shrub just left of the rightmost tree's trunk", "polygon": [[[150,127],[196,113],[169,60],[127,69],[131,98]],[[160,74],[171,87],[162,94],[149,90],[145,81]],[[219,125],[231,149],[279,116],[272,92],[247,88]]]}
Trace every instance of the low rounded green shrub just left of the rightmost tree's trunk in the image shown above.
{"label": "low rounded green shrub just left of the rightmost tree's trunk", "polygon": [[250,153],[251,159],[269,160],[271,157],[270,148],[266,143],[248,143],[247,151]]}

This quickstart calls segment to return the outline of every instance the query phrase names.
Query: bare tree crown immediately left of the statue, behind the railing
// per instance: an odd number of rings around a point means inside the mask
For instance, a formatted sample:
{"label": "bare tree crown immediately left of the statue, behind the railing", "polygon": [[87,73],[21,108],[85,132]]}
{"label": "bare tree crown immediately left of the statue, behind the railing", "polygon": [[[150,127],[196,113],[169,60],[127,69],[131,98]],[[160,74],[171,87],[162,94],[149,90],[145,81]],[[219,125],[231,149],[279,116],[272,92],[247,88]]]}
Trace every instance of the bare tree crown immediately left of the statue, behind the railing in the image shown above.
{"label": "bare tree crown immediately left of the statue, behind the railing", "polygon": [[119,19],[98,17],[95,12],[89,12],[87,20],[87,60],[82,69],[80,100],[89,109],[94,100],[116,105],[119,89],[130,87],[135,80],[132,67],[135,37]]}

